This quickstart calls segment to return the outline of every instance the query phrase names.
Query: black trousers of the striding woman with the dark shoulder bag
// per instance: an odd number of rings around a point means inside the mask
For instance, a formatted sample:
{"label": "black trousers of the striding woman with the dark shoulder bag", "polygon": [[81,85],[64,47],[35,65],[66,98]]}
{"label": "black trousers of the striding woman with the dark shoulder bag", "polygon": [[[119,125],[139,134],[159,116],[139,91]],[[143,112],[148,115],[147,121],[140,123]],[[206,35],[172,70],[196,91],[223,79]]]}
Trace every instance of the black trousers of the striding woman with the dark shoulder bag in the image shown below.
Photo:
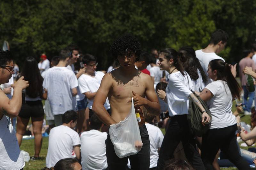
{"label": "black trousers of the striding woman with the dark shoulder bag", "polygon": [[174,158],[173,153],[180,141],[182,142],[189,163],[196,170],[205,169],[202,159],[196,150],[193,134],[188,127],[187,115],[177,115],[170,118],[170,124],[164,135],[164,140],[159,152],[157,169],[164,169],[165,162]]}

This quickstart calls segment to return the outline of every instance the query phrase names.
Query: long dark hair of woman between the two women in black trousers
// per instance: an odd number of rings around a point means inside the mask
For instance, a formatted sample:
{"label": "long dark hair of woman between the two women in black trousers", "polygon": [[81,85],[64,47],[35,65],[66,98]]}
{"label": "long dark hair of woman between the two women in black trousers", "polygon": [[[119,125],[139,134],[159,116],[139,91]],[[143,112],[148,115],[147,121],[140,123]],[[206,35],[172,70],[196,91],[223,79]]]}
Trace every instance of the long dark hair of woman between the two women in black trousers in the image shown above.
{"label": "long dark hair of woman between the two women in black trousers", "polygon": [[199,60],[196,58],[195,50],[190,46],[181,47],[179,50],[181,56],[184,56],[187,60],[183,63],[185,71],[189,74],[192,80],[197,80],[199,75],[197,69],[202,75],[203,82],[207,82],[207,76],[204,73],[203,67],[201,66]]}

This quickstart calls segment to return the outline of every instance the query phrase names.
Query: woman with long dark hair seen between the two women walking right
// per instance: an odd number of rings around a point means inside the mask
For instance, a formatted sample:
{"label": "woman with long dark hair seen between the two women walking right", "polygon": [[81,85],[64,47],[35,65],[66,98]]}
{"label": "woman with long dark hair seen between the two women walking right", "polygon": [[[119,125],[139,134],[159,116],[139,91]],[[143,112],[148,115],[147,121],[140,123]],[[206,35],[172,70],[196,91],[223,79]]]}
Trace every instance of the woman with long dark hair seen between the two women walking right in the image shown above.
{"label": "woman with long dark hair seen between the two women walking right", "polygon": [[186,58],[183,67],[189,74],[195,91],[201,92],[204,89],[204,84],[207,82],[207,76],[199,60],[196,58],[195,50],[190,46],[184,46],[180,48],[179,53],[182,57]]}

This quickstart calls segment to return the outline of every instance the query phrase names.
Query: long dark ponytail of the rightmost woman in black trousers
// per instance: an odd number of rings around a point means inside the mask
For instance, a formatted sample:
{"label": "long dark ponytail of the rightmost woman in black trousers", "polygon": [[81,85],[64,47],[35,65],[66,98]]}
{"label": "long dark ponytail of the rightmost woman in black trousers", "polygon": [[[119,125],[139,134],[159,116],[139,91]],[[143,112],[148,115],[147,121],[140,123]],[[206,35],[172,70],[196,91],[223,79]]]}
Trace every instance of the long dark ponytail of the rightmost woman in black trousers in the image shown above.
{"label": "long dark ponytail of the rightmost woman in black trousers", "polygon": [[217,70],[217,80],[226,81],[233,97],[240,99],[241,87],[231,73],[228,63],[220,59],[210,61],[212,71]]}

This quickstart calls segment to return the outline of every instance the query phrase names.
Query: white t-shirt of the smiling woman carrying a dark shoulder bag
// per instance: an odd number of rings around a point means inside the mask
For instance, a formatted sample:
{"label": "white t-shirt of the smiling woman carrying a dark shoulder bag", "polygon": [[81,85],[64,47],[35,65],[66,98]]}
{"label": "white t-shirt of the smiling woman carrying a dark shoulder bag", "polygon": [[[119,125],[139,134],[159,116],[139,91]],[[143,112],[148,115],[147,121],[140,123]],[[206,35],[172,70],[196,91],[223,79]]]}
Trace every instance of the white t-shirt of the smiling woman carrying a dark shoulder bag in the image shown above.
{"label": "white t-shirt of the smiling woman carrying a dark shoulder bag", "polygon": [[194,90],[194,86],[188,73],[184,72],[184,74],[183,76],[178,71],[169,75],[169,82],[165,92],[168,111],[171,117],[188,114],[188,96],[192,93],[189,88]]}

